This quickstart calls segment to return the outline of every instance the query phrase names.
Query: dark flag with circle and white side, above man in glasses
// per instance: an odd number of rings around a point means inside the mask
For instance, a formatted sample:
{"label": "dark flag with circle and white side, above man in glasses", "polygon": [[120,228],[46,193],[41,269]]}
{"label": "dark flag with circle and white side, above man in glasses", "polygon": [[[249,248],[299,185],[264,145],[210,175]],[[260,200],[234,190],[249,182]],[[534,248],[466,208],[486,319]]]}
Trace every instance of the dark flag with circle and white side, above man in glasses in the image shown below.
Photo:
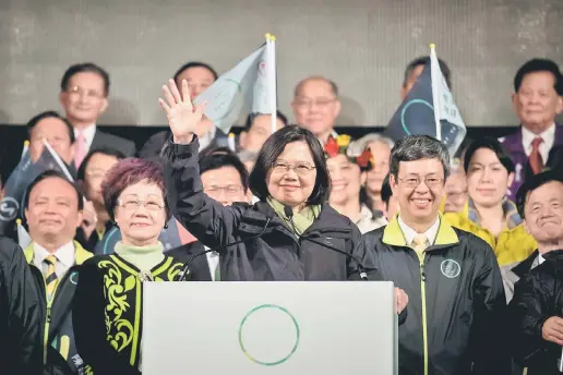
{"label": "dark flag with circle and white side, above man in glasses", "polygon": [[431,46],[430,63],[391,118],[385,134],[394,141],[410,134],[430,135],[442,141],[450,156],[454,157],[466,133],[464,120]]}

